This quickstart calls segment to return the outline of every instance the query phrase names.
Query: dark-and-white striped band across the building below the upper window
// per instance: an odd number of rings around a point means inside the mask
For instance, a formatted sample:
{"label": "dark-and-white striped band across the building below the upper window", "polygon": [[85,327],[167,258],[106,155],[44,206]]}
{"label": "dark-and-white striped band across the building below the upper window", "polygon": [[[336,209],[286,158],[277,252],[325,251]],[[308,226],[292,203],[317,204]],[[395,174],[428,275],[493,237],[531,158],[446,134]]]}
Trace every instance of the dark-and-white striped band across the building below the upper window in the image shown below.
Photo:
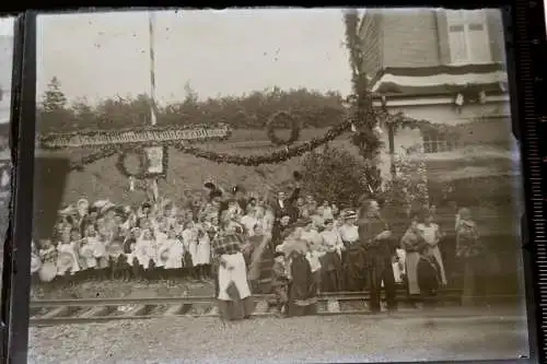
{"label": "dark-and-white striped band across the building below the upper window", "polygon": [[501,63],[386,68],[371,85],[373,93],[383,96],[450,94],[468,85],[499,94],[508,90],[508,73]]}

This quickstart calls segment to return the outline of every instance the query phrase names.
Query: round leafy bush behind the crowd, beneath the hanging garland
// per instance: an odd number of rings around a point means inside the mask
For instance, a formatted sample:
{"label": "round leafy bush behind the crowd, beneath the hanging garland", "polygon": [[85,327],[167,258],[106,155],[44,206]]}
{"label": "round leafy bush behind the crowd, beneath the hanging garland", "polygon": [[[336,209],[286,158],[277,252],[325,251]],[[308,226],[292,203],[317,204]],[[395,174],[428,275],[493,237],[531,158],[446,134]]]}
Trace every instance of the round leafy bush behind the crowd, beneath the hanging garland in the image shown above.
{"label": "round leafy bush behind the crowd, beneath the hanging garland", "polygon": [[344,149],[326,146],[306,155],[302,163],[304,186],[318,199],[354,208],[366,190],[363,161]]}

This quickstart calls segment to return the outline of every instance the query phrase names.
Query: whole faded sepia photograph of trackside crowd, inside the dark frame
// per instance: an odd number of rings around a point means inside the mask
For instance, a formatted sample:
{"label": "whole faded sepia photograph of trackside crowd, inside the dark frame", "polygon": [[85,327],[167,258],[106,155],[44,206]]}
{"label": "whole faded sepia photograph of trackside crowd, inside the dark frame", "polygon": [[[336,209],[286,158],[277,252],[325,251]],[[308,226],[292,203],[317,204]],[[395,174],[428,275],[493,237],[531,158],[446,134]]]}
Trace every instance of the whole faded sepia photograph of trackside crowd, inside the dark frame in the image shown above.
{"label": "whole faded sepia photograph of trackside crowd, inside the dark frame", "polygon": [[39,15],[28,362],[527,357],[505,57],[497,9]]}

